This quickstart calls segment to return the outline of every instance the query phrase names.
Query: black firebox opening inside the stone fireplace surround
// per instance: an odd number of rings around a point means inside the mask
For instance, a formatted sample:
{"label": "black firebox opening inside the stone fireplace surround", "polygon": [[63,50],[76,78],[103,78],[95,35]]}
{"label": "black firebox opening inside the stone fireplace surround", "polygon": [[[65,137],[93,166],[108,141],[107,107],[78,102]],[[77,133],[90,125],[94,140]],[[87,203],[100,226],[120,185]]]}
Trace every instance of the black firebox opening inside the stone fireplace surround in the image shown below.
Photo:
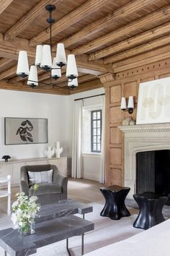
{"label": "black firebox opening inside the stone fireplace surround", "polygon": [[170,150],[136,154],[136,192],[170,195]]}

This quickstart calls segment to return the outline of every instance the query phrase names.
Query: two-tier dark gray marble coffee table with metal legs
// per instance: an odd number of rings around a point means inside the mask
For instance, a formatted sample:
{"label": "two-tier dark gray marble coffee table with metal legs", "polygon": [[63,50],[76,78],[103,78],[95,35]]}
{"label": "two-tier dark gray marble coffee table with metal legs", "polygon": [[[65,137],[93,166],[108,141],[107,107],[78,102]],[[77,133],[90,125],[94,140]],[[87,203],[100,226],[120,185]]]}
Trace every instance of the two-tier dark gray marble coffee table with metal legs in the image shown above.
{"label": "two-tier dark gray marble coffee table with metal legs", "polygon": [[92,211],[91,206],[74,200],[63,200],[54,205],[44,205],[40,216],[35,221],[35,234],[21,236],[17,229],[0,231],[0,246],[5,255],[25,256],[37,252],[37,248],[66,239],[68,255],[68,238],[81,236],[81,255],[84,255],[84,233],[94,229],[94,223],[74,216]]}

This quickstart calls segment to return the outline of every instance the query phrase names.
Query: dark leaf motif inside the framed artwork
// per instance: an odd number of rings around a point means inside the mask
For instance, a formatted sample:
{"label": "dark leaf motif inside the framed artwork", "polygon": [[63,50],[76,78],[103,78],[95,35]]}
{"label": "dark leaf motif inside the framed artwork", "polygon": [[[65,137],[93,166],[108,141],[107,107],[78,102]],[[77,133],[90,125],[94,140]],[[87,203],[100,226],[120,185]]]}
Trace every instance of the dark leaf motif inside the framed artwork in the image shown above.
{"label": "dark leaf motif inside the framed artwork", "polygon": [[16,135],[19,134],[21,140],[33,142],[32,134],[33,125],[29,120],[22,121],[21,126],[17,129]]}

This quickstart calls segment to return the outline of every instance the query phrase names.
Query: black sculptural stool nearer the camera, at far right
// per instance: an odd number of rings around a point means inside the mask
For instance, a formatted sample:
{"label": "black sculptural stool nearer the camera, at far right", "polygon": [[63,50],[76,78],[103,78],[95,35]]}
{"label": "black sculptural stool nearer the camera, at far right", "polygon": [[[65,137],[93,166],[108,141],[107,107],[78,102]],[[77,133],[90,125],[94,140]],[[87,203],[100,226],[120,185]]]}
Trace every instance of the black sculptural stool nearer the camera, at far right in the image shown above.
{"label": "black sculptural stool nearer the camera, at far right", "polygon": [[168,197],[163,197],[154,192],[143,192],[133,195],[139,206],[139,214],[133,226],[138,229],[149,229],[165,221],[162,215],[162,208]]}

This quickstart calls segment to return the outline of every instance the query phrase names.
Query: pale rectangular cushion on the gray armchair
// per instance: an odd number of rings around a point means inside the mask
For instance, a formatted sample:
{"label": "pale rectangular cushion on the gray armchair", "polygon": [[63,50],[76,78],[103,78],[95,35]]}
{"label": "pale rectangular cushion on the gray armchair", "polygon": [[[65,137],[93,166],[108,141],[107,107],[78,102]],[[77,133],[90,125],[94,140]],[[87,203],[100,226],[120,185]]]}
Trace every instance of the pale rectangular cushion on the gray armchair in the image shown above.
{"label": "pale rectangular cushion on the gray armchair", "polygon": [[28,171],[29,181],[33,179],[32,183],[52,183],[53,170],[48,171]]}

